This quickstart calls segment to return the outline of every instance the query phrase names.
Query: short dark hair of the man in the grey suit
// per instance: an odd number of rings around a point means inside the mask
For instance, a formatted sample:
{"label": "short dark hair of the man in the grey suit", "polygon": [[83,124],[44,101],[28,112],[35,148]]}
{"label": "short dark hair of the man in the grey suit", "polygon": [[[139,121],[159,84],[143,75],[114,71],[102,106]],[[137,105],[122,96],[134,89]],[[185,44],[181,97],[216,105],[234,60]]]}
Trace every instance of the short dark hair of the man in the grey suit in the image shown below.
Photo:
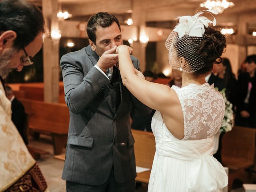
{"label": "short dark hair of the man in the grey suit", "polygon": [[98,26],[102,28],[106,28],[111,26],[113,22],[116,22],[118,25],[119,30],[121,31],[120,22],[116,18],[116,16],[111,15],[107,12],[99,12],[95,15],[92,15],[87,23],[86,32],[88,34],[89,39],[96,44],[96,30]]}

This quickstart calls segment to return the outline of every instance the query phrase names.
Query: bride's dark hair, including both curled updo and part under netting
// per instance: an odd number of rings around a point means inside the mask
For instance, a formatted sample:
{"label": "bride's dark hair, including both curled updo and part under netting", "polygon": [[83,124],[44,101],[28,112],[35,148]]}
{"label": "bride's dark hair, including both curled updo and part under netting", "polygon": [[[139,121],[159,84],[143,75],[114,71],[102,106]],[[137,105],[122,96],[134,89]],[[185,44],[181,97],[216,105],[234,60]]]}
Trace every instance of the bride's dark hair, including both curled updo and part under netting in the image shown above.
{"label": "bride's dark hair, including both curled updo and part under netting", "polygon": [[[176,60],[179,61],[178,58],[183,57],[188,64],[185,72],[192,72],[195,75],[206,74],[212,70],[214,63],[222,62],[221,55],[226,48],[226,37],[210,26],[204,29],[203,38],[185,35],[177,38],[173,44]],[[195,67],[198,70],[194,69]]]}

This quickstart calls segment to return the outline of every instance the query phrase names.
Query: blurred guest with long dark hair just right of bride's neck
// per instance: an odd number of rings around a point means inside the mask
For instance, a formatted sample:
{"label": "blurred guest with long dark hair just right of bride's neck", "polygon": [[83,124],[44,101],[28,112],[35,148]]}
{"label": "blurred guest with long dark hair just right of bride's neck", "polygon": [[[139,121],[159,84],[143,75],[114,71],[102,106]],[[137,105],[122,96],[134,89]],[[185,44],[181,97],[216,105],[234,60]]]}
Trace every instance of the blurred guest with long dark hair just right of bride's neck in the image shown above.
{"label": "blurred guest with long dark hair just right of bride's neck", "polygon": [[223,79],[226,86],[226,97],[233,104],[233,110],[236,100],[236,76],[232,73],[231,64],[228,58],[222,58],[222,62],[216,65],[218,77]]}

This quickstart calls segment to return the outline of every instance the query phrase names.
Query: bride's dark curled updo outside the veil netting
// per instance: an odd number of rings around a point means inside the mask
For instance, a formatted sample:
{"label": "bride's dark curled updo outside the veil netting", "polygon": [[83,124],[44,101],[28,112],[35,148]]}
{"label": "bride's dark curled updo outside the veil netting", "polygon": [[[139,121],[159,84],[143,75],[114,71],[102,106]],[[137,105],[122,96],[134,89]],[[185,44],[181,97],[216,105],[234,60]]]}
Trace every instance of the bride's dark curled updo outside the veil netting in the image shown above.
{"label": "bride's dark curled updo outside the veil netting", "polygon": [[213,64],[222,62],[221,55],[226,49],[226,37],[212,27],[205,28],[206,38],[197,46],[197,52],[204,61],[204,67],[195,71],[195,75],[206,74],[212,70]]}

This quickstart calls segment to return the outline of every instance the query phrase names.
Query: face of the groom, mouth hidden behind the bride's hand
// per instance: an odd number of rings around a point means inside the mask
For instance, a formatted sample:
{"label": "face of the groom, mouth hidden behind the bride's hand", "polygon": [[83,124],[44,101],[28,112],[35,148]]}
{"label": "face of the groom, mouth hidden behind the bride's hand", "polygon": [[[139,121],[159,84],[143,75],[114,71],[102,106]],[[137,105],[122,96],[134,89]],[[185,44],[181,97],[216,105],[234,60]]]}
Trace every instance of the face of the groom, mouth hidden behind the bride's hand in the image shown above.
{"label": "face of the groom, mouth hidden behind the bride's hand", "polygon": [[102,56],[105,51],[110,50],[114,46],[123,44],[122,35],[116,22],[113,22],[111,26],[106,28],[98,26],[95,35],[96,44],[90,42],[90,45],[98,56]]}

